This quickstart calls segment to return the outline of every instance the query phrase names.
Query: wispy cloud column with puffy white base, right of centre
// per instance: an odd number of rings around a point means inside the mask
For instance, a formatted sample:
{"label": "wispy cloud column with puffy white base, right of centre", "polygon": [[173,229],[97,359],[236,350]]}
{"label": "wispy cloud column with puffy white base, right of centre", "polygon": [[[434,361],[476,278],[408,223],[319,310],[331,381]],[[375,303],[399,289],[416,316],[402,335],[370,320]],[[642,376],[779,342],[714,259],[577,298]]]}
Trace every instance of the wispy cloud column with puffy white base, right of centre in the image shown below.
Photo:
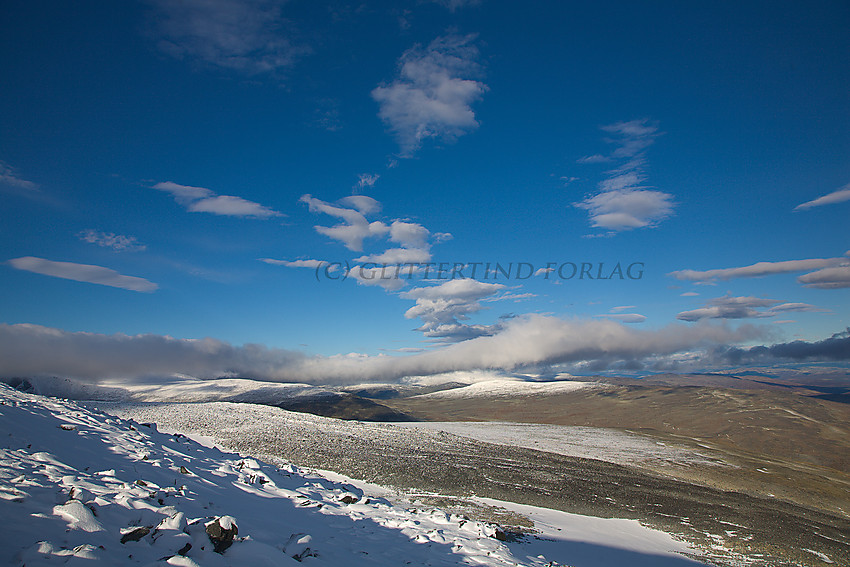
{"label": "wispy cloud column with puffy white base, right of centre", "polygon": [[580,163],[617,162],[621,165],[607,173],[599,191],[574,205],[590,214],[591,225],[611,233],[657,225],[673,213],[673,196],[651,190],[643,183],[645,150],[659,135],[658,126],[649,120],[632,120],[603,126],[615,144],[608,156],[595,154]]}

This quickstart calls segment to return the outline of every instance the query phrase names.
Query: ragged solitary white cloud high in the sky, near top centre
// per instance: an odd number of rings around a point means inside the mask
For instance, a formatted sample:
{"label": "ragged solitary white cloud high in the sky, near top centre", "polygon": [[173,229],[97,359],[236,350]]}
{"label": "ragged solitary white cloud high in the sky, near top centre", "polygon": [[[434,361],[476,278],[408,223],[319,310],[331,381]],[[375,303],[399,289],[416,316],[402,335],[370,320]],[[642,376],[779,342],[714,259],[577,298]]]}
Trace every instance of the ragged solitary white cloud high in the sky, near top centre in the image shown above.
{"label": "ragged solitary white cloud high in the sky, near top centre", "polygon": [[423,141],[453,142],[476,129],[472,103],[487,85],[470,79],[479,72],[472,35],[447,35],[427,48],[415,46],[400,59],[399,77],[372,91],[378,116],[395,135],[401,155],[410,157]]}

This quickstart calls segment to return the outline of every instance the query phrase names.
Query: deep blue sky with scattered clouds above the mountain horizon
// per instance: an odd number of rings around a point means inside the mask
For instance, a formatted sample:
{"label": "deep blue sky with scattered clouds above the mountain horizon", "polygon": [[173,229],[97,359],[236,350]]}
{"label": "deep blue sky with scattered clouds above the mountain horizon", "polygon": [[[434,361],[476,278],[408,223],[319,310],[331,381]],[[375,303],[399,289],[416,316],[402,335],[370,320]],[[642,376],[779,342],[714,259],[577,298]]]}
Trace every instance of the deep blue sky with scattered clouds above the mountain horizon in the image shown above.
{"label": "deep blue sky with scattered clouds above the mountain horizon", "polygon": [[4,373],[693,370],[850,326],[845,2],[0,21]]}

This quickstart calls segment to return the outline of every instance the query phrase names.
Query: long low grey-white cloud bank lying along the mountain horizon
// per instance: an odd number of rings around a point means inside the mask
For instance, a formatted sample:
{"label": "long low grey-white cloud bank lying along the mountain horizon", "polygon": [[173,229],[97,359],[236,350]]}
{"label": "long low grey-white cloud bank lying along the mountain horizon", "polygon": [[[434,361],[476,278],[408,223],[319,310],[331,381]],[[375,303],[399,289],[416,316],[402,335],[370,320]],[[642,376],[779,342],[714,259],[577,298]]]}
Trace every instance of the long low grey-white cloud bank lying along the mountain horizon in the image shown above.
{"label": "long low grey-white cloud bank lying along the mountain horizon", "polygon": [[528,315],[500,331],[410,356],[307,356],[262,345],[158,335],[71,333],[37,325],[0,324],[0,375],[82,379],[186,374],[250,376],[264,380],[358,383],[469,370],[540,368],[569,362],[610,364],[728,347],[762,337],[750,326],[671,325],[635,330],[614,321],[566,321]]}

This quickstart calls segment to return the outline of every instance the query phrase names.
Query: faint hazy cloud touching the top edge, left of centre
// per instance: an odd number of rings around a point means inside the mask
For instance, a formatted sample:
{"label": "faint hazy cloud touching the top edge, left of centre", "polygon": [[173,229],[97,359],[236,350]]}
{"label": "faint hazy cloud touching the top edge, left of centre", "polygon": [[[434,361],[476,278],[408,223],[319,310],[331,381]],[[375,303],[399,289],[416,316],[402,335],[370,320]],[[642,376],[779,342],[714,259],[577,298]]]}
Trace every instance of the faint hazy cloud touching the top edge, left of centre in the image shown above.
{"label": "faint hazy cloud touching the top edge, left of centre", "polygon": [[287,37],[283,0],[149,0],[157,9],[158,47],[248,75],[292,66],[309,49]]}

